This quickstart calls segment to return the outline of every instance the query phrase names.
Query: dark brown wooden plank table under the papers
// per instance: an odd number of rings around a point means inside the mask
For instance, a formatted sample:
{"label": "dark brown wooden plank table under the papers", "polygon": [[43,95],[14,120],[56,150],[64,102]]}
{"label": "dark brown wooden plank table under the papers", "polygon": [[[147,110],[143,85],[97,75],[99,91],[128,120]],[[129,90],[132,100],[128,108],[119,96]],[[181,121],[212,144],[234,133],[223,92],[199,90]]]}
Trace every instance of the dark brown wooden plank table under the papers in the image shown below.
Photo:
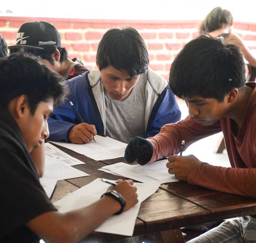
{"label": "dark brown wooden plank table under the papers", "polygon": [[[86,164],[73,167],[91,176],[58,181],[52,202],[87,185],[96,178],[104,177],[113,180],[120,178],[98,171],[98,168],[106,164],[125,162],[124,158],[95,161],[61,146],[54,146],[85,162]],[[255,214],[256,198],[216,192],[180,181],[166,183],[141,203],[134,236],[155,232],[157,242],[183,243],[180,227]],[[124,236],[95,232],[81,242],[101,243],[122,238]]]}

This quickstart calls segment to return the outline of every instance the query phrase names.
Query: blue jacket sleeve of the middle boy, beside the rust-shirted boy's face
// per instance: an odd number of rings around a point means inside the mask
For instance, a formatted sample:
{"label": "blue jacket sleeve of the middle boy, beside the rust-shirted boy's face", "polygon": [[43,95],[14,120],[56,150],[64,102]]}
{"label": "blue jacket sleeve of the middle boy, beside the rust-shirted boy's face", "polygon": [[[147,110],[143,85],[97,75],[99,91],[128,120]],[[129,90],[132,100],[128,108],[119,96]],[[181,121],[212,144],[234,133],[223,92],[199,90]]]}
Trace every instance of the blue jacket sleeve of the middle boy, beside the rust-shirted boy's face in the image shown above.
{"label": "blue jacket sleeve of the middle boy, beside the rust-shirted boy's face", "polygon": [[[153,111],[153,110],[152,110]],[[161,103],[155,112],[151,124],[148,125],[147,137],[155,136],[165,124],[180,121],[181,112],[175,95],[169,86],[161,94]]]}

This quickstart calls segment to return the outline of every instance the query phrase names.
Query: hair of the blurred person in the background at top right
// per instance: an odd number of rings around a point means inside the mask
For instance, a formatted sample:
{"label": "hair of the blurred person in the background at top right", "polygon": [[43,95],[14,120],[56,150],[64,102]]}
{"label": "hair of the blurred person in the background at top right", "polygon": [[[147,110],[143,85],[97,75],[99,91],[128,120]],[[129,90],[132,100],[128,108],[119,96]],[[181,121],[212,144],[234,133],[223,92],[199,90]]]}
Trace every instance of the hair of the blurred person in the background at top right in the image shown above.
{"label": "hair of the blurred person in the background at top right", "polygon": [[222,28],[222,24],[230,24],[233,21],[232,14],[226,9],[217,7],[210,11],[206,18],[202,21],[200,27],[200,34],[212,32]]}

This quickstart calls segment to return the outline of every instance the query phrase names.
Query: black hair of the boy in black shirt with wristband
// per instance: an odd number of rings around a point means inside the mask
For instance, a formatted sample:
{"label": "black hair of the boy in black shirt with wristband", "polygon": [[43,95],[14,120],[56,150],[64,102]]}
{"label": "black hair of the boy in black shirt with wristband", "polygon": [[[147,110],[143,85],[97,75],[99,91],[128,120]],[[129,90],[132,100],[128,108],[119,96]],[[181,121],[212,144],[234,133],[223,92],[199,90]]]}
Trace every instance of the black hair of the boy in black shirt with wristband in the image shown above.
{"label": "black hair of the boy in black shirt with wristband", "polygon": [[40,102],[53,98],[59,105],[66,94],[58,73],[40,63],[35,56],[21,52],[0,59],[0,77],[0,104],[5,108],[14,98],[26,95],[34,114]]}

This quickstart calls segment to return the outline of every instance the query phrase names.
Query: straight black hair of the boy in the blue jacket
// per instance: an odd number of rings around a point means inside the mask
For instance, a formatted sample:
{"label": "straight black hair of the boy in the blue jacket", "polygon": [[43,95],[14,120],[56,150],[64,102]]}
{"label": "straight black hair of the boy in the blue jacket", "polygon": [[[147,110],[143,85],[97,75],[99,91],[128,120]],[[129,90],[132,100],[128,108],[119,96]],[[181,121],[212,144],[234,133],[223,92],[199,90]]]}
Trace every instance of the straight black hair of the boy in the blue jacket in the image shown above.
{"label": "straight black hair of the boy in the blue jacket", "polygon": [[100,70],[113,66],[131,77],[145,73],[149,64],[146,44],[132,27],[108,30],[100,40],[96,60]]}

